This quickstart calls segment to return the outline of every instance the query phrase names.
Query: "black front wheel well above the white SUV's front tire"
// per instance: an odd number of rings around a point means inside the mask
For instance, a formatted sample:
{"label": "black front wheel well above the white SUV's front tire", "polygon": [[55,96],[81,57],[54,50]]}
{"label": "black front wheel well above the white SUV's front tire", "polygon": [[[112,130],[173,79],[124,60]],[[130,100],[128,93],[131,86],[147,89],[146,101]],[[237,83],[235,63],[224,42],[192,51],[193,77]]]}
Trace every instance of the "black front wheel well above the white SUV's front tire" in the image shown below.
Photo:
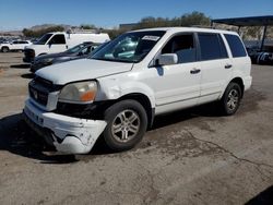
{"label": "black front wheel well above the white SUV's front tire", "polygon": [[134,93],[134,94],[129,94],[129,95],[122,96],[121,98],[118,99],[118,101],[121,101],[124,99],[133,99],[133,100],[140,102],[144,107],[144,109],[146,110],[146,113],[147,113],[147,122],[149,122],[147,128],[151,128],[153,125],[155,110],[152,108],[152,105],[151,105],[147,96],[145,96],[143,94]]}

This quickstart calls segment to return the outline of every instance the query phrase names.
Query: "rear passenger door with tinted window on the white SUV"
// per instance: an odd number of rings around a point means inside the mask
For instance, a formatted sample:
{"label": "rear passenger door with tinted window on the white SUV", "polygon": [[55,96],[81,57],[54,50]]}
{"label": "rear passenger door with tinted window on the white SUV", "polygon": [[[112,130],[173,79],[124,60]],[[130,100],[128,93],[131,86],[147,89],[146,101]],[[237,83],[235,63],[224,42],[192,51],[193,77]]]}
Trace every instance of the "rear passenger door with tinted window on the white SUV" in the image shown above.
{"label": "rear passenger door with tinted window on the white SUV", "polygon": [[199,33],[201,60],[201,95],[199,104],[216,100],[233,75],[223,36],[216,33]]}

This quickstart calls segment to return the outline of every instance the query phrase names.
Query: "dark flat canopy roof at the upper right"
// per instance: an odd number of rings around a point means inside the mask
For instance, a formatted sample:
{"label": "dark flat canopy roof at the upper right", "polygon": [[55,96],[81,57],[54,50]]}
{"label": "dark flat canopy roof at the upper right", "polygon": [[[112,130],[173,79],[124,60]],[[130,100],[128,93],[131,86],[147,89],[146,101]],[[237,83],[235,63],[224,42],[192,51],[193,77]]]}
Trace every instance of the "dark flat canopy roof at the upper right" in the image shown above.
{"label": "dark flat canopy roof at the upper right", "polygon": [[212,20],[212,23],[235,25],[235,26],[265,26],[273,25],[273,15],[233,17]]}

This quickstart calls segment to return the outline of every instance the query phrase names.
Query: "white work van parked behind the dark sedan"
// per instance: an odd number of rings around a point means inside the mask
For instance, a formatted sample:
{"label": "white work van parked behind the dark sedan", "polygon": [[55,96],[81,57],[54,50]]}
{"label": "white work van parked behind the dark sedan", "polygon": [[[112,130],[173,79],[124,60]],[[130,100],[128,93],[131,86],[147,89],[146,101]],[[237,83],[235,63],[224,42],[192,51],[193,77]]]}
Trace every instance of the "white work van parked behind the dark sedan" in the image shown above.
{"label": "white work van parked behind the dark sedan", "polygon": [[29,63],[37,56],[62,52],[85,41],[103,44],[108,40],[110,40],[110,38],[106,33],[48,33],[25,48],[23,61]]}

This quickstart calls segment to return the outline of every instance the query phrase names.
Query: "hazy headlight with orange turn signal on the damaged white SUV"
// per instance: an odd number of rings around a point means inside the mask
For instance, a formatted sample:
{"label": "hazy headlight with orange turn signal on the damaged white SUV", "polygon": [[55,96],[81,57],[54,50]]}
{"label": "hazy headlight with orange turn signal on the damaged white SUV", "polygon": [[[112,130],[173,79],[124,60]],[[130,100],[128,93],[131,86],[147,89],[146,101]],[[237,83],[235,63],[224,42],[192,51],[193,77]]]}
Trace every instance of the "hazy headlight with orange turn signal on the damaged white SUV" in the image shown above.
{"label": "hazy headlight with orange turn signal on the damaged white SUV", "polygon": [[92,102],[97,93],[97,83],[94,81],[71,83],[66,85],[60,93],[59,101],[71,104]]}

